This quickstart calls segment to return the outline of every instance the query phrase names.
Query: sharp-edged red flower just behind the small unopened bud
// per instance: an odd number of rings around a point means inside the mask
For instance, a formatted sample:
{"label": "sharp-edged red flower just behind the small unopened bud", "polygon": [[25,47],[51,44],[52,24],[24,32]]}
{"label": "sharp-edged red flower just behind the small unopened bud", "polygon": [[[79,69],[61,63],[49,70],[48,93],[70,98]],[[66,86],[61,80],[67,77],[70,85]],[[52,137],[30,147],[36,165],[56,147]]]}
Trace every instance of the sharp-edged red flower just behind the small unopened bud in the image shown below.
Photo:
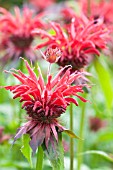
{"label": "sharp-edged red flower just behind the small unopened bud", "polygon": [[93,55],[99,55],[100,50],[106,48],[109,31],[101,19],[89,21],[86,17],[75,17],[65,30],[58,23],[50,24],[54,35],[41,29],[33,31],[33,35],[38,34],[42,39],[47,39],[36,49],[56,44],[62,51],[62,57],[58,60],[61,66],[70,64],[73,70],[78,70],[87,66]]}

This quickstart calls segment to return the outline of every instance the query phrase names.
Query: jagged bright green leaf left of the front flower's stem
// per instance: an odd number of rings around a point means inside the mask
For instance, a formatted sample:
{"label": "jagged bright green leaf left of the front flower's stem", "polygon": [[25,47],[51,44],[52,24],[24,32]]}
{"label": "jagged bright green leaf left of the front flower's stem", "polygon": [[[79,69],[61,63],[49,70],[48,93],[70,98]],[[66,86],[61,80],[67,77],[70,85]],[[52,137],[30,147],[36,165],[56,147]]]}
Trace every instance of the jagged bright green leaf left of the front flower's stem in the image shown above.
{"label": "jagged bright green leaf left of the front flower's stem", "polygon": [[29,141],[30,141],[30,137],[29,135],[23,135],[23,146],[21,147],[21,152],[22,154],[25,156],[25,158],[28,160],[28,162],[30,163],[30,166],[32,168],[32,149],[30,148],[29,145]]}

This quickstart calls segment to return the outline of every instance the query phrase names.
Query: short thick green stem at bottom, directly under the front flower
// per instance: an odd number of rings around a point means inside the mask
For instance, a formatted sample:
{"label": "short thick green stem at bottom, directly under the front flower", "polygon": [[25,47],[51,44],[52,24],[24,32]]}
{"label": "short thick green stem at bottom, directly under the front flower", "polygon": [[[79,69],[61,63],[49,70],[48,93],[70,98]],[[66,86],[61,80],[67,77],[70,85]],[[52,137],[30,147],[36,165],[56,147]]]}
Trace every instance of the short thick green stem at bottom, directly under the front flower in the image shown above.
{"label": "short thick green stem at bottom, directly under the front flower", "polygon": [[37,162],[36,162],[36,170],[42,170],[43,168],[43,149],[41,146],[38,147],[38,153],[37,153]]}

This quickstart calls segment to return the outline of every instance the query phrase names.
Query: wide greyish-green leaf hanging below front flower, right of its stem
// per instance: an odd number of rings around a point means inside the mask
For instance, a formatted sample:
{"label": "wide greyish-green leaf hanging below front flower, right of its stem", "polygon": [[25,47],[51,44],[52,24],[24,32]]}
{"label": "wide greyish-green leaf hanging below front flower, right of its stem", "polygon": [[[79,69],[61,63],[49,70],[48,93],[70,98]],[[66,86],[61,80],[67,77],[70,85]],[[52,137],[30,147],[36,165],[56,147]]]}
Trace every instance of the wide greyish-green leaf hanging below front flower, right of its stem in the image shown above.
{"label": "wide greyish-green leaf hanging below front flower, right of its stem", "polygon": [[49,143],[48,150],[45,149],[45,154],[51,162],[53,170],[64,170],[64,149],[62,145],[62,134],[58,133],[58,142],[53,139],[54,146]]}

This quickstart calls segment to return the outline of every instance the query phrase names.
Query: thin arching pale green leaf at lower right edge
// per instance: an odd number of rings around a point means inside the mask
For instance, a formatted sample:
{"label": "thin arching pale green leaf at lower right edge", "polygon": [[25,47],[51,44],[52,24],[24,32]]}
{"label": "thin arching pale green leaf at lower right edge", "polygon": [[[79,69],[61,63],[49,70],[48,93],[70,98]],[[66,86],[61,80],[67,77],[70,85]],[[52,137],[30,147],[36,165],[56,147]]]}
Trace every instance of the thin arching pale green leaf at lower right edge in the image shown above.
{"label": "thin arching pale green leaf at lower right edge", "polygon": [[82,152],[79,155],[86,155],[86,154],[96,154],[96,155],[102,156],[103,158],[105,158],[106,160],[110,162],[113,162],[113,154],[107,154],[106,152],[103,152],[103,151],[91,150],[91,151]]}

